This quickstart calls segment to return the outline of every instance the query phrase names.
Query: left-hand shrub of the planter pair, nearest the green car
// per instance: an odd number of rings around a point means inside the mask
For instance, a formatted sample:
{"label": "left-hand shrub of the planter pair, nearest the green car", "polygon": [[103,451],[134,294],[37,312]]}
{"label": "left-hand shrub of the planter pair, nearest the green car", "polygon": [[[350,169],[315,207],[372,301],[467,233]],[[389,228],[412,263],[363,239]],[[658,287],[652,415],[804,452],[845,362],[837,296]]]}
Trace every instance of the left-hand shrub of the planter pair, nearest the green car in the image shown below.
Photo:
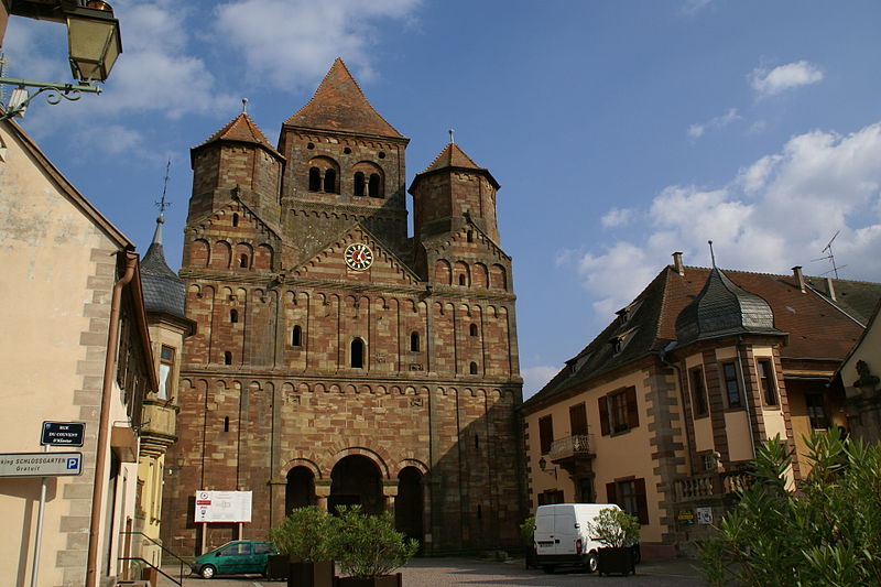
{"label": "left-hand shrub of the planter pair, nearest the green car", "polygon": [[282,553],[270,559],[270,578],[287,577],[289,587],[333,587],[336,525],[337,520],[316,506],[291,512],[269,531],[269,539]]}

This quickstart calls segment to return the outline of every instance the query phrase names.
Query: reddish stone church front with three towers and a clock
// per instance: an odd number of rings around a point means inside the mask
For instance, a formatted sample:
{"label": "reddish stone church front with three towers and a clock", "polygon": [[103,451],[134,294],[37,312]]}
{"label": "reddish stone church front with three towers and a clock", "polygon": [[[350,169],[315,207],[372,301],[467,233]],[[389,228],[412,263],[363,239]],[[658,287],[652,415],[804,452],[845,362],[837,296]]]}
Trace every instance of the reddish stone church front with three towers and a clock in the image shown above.
{"label": "reddish stone church front with three towers and a clock", "polygon": [[[337,59],[282,124],[241,113],[192,150],[187,339],[163,541],[262,539],[295,507],[390,511],[425,553],[519,544],[522,401],[499,184],[458,145],[416,174]],[[246,524],[197,490],[252,492]]]}

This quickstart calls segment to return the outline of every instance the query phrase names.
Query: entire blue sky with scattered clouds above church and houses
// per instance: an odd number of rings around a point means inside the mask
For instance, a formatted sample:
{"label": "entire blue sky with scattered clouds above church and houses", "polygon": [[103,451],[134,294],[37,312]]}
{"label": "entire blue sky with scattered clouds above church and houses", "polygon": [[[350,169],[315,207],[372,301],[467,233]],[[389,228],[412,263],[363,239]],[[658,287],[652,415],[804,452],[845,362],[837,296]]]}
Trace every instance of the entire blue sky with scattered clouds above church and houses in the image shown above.
{"label": "entire blue sky with scattered clouds above church and houses", "polygon": [[[115,0],[99,96],[25,130],[142,253],[171,160],[181,262],[189,149],[241,112],[270,142],[339,56],[411,138],[501,184],[527,398],[682,251],[724,269],[881,281],[875,0]],[[68,81],[61,24],[12,18],[8,77]],[[412,226],[411,226],[412,232]]]}

